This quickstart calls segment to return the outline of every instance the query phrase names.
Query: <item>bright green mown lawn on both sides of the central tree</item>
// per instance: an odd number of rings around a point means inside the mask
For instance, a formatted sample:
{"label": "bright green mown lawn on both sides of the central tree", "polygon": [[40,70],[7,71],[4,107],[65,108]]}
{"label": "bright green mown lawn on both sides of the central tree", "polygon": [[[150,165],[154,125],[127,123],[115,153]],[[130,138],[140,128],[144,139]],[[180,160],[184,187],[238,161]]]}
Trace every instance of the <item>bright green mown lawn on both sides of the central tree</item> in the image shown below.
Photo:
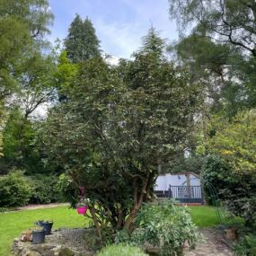
{"label": "bright green mown lawn on both sides of the central tree", "polygon": [[[190,210],[193,222],[199,227],[219,225],[214,207],[190,207]],[[74,209],[69,209],[66,206],[2,213],[0,214],[0,255],[12,255],[10,246],[13,239],[20,236],[22,231],[33,226],[35,221],[49,218],[54,221],[54,229],[83,227],[89,222],[88,218],[78,215]],[[227,219],[225,219],[225,223],[228,223]]]}

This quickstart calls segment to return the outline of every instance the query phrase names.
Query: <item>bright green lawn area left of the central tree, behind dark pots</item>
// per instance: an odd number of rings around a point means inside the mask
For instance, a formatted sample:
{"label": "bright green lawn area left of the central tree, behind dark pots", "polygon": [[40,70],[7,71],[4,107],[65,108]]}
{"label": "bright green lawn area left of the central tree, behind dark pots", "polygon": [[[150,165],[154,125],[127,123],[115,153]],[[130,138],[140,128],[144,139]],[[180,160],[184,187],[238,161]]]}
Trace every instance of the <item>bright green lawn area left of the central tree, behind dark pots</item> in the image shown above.
{"label": "bright green lawn area left of the central tree, behind dark pots", "polygon": [[13,239],[29,229],[40,219],[52,219],[53,229],[58,227],[83,227],[89,219],[78,215],[75,209],[64,207],[40,208],[0,213],[0,256],[10,256]]}

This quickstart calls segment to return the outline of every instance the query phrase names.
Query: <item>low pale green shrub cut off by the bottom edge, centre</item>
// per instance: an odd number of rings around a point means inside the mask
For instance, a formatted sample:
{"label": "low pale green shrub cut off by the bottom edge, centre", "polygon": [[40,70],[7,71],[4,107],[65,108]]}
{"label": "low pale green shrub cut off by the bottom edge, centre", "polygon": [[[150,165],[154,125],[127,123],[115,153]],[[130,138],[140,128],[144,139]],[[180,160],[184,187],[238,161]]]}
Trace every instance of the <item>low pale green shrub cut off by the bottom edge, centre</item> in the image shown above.
{"label": "low pale green shrub cut off by the bottom edge, centre", "polygon": [[128,244],[111,244],[102,249],[97,256],[146,256],[140,248]]}

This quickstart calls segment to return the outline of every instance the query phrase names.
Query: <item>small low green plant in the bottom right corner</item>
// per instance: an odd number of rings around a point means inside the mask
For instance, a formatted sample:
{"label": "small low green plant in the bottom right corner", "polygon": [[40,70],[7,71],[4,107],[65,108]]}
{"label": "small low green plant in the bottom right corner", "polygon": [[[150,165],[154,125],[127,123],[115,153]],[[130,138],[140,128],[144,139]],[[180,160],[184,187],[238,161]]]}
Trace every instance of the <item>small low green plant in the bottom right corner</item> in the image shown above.
{"label": "small low green plant in the bottom right corner", "polygon": [[234,253],[237,256],[256,256],[256,236],[247,234],[234,246]]}

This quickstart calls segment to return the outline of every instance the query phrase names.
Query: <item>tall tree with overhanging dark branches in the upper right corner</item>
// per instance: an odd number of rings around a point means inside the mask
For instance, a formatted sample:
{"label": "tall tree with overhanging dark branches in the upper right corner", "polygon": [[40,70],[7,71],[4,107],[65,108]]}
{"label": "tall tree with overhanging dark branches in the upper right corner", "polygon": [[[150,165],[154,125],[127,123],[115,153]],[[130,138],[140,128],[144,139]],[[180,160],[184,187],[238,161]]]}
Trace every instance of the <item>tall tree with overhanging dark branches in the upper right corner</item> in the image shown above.
{"label": "tall tree with overhanging dark branches in the upper right corner", "polygon": [[229,117],[255,107],[255,1],[169,2],[180,28],[178,56],[206,84],[207,105]]}

